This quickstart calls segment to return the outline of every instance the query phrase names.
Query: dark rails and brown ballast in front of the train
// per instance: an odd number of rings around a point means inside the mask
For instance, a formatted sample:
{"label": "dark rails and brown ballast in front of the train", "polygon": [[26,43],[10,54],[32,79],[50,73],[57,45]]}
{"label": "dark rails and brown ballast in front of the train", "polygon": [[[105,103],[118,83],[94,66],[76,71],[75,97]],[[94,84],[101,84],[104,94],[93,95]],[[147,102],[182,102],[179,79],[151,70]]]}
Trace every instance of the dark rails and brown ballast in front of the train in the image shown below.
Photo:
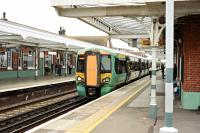
{"label": "dark rails and brown ballast in front of the train", "polygon": [[27,131],[91,100],[79,97],[76,90],[71,88],[3,107],[0,109],[0,133]]}

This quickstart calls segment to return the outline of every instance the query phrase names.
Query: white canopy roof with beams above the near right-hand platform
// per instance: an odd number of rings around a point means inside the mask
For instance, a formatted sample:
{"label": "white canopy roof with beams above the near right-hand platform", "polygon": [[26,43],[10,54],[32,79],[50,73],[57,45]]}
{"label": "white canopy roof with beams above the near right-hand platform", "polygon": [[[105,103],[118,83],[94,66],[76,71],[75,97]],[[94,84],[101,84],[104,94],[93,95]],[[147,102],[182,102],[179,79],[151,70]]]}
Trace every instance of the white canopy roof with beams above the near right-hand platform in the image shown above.
{"label": "white canopy roof with beams above the near right-hand platform", "polygon": [[[165,0],[51,0],[59,16],[78,18],[131,43],[149,38],[152,18],[165,16]],[[200,13],[198,0],[175,0],[175,19]]]}

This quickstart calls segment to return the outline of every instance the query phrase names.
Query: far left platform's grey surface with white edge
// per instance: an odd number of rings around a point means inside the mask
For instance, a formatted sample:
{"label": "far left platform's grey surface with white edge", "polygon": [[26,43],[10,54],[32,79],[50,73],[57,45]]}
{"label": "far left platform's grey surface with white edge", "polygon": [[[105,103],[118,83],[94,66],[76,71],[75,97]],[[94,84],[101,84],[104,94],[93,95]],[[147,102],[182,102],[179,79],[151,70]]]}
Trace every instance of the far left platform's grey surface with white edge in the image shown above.
{"label": "far left platform's grey surface with white edge", "polygon": [[0,80],[0,93],[6,91],[14,91],[37,86],[45,86],[75,80],[74,75],[69,76],[44,76],[38,77],[36,80],[31,78],[14,78]]}

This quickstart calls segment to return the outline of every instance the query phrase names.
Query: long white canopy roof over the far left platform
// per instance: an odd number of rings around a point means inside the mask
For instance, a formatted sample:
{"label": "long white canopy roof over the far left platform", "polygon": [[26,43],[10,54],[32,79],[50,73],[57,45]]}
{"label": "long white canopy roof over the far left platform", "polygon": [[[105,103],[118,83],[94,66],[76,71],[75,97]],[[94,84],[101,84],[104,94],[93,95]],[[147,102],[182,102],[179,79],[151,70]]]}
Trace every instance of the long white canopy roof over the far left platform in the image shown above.
{"label": "long white canopy roof over the far left platform", "polygon": [[11,21],[0,20],[0,46],[7,48],[32,46],[77,52],[79,49],[96,45]]}

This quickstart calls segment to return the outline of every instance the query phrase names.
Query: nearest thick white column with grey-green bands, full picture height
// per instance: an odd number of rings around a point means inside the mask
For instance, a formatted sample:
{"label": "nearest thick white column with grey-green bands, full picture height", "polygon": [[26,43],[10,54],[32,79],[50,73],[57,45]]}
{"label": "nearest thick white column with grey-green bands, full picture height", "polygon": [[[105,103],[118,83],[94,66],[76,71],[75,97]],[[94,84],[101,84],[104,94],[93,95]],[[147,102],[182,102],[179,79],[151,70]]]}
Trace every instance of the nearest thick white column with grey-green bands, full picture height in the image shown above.
{"label": "nearest thick white column with grey-green bands, full picture height", "polygon": [[166,81],[165,126],[160,133],[178,133],[173,128],[173,51],[174,51],[174,1],[166,1]]}

